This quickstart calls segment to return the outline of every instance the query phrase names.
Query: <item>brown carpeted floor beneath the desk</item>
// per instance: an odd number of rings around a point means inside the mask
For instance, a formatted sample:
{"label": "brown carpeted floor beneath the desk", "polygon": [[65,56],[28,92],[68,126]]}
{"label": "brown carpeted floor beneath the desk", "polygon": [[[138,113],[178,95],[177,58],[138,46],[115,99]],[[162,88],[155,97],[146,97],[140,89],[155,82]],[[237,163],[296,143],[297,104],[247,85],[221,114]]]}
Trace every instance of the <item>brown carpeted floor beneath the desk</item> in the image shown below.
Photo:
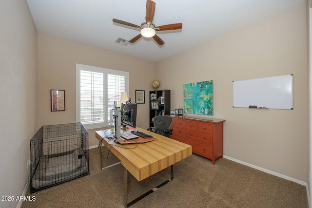
{"label": "brown carpeted floor beneath the desk", "polygon": [[[104,157],[106,148],[102,149]],[[21,208],[122,208],[121,164],[100,170],[98,148],[89,151],[90,175],[32,194]],[[118,159],[110,153],[106,165]],[[211,160],[196,154],[174,166],[174,180],[132,208],[308,208],[306,187],[228,159]],[[128,172],[129,199],[170,178],[170,168],[137,182]],[[28,189],[26,196],[30,195]]]}

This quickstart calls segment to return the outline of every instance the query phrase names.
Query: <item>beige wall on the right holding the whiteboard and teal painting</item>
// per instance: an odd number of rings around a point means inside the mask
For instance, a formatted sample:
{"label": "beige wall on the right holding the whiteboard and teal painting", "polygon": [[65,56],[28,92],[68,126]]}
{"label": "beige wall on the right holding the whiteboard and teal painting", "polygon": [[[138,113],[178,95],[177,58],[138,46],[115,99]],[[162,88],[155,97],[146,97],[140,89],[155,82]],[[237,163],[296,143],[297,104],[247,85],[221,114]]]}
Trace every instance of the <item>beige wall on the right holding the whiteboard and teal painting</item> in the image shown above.
{"label": "beige wall on the right holding the whiteboard and teal painting", "polygon": [[[214,80],[214,117],[226,119],[224,154],[308,182],[306,27],[303,1],[159,61],[157,78],[171,89],[172,109],[183,107],[184,83]],[[288,74],[293,110],[232,107],[233,80]]]}

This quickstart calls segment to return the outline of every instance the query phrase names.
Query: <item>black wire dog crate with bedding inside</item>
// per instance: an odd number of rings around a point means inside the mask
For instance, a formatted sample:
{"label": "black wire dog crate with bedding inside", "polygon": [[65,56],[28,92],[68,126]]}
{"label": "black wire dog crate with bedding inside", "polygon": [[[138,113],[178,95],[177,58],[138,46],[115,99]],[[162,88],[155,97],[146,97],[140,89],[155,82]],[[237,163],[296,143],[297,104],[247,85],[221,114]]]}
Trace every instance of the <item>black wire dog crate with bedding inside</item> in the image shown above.
{"label": "black wire dog crate with bedding inside", "polygon": [[30,140],[30,192],[89,174],[88,131],[81,123],[42,126]]}

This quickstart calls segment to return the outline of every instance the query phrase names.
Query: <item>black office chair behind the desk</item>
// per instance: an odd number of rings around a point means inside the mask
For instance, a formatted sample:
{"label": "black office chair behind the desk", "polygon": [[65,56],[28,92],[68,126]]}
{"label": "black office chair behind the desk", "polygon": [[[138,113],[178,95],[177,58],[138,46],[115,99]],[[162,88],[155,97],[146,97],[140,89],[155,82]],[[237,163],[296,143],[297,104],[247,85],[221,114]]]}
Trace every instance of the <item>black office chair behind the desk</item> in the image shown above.
{"label": "black office chair behind the desk", "polygon": [[167,115],[156,115],[154,117],[154,131],[170,138],[173,129],[170,129],[173,119]]}

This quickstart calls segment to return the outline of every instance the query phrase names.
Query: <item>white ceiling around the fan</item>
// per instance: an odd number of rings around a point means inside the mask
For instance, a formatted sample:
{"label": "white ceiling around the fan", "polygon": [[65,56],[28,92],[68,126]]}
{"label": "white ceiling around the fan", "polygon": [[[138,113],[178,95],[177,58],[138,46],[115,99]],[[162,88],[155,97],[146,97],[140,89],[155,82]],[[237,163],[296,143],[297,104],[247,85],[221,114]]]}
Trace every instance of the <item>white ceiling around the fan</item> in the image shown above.
{"label": "white ceiling around the fan", "polygon": [[27,0],[39,32],[97,46],[150,61],[159,61],[187,48],[249,24],[303,0],[154,0],[156,26],[182,23],[182,30],[157,32],[165,42],[141,38],[127,46],[139,30],[113,24],[144,22],[146,0]]}

